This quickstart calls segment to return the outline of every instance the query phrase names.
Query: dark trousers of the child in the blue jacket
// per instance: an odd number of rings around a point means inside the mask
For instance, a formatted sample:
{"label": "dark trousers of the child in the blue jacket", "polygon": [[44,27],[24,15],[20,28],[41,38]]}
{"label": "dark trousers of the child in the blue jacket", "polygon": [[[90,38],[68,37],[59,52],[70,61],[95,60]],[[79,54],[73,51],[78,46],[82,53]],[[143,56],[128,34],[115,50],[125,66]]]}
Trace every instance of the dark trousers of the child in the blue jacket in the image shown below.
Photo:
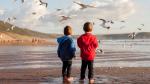
{"label": "dark trousers of the child in the blue jacket", "polygon": [[63,61],[63,66],[62,66],[62,76],[64,77],[70,77],[71,75],[71,66],[72,66],[72,61]]}

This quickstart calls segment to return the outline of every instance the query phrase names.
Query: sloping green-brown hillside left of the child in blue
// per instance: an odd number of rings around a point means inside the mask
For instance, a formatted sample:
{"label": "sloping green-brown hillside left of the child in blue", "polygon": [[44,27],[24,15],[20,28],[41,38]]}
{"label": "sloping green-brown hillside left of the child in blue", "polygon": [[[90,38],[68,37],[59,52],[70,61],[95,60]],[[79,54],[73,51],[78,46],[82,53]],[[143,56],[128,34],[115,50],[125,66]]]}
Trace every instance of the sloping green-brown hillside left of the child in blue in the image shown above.
{"label": "sloping green-brown hillside left of the child in blue", "polygon": [[29,29],[23,29],[19,27],[14,27],[13,30],[11,29],[12,25],[9,23],[4,23],[3,21],[0,21],[0,33],[5,33],[8,34],[12,37],[38,37],[38,38],[56,38],[58,35],[57,34],[46,34],[46,33],[41,33],[37,31],[32,31]]}

